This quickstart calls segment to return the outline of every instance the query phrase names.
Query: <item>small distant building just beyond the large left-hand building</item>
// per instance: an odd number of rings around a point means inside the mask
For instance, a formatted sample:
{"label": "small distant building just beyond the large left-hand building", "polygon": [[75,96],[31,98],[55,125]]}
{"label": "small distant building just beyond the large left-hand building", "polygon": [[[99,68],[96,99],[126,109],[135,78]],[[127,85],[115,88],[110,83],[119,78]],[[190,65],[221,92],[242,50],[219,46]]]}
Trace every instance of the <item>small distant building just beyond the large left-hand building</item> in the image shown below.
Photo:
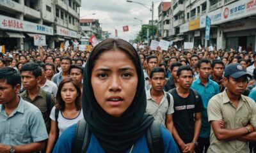
{"label": "small distant building just beyond the large left-hand building", "polygon": [[82,34],[84,34],[84,36],[92,36],[92,34],[95,34],[97,36],[102,33],[99,19],[80,19],[80,27],[82,29]]}

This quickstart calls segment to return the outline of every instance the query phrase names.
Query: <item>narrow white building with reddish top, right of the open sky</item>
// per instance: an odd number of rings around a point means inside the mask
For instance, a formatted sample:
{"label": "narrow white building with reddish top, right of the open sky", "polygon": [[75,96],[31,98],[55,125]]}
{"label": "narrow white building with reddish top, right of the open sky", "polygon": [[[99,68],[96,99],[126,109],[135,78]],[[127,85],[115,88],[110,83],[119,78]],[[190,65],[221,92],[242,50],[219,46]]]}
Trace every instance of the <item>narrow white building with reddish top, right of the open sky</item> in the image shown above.
{"label": "narrow white building with reddish top, right of the open sky", "polygon": [[172,33],[172,3],[161,2],[158,6],[157,34],[159,39],[168,40]]}

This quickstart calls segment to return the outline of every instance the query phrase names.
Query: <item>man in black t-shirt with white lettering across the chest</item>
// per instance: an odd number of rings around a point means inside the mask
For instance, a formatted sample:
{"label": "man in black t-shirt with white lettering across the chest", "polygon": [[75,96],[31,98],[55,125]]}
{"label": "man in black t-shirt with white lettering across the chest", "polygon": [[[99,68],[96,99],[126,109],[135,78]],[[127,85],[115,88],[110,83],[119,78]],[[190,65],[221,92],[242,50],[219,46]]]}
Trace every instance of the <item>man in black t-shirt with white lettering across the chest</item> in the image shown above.
{"label": "man in black t-shirt with white lettering across the chest", "polygon": [[193,70],[190,66],[180,66],[177,70],[179,86],[170,92],[173,96],[173,137],[180,152],[195,152],[200,132],[203,110],[200,95],[190,89]]}

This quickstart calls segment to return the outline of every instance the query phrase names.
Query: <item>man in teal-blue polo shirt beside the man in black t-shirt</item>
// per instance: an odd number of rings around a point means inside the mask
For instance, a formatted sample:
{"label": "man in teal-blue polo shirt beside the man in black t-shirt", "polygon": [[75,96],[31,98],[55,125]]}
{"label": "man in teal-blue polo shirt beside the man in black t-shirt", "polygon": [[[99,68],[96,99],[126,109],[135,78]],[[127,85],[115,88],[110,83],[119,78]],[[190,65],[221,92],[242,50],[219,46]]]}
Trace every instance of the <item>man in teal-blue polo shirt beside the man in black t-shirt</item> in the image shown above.
{"label": "man in teal-blue polo shirt beside the man in black t-shirt", "polygon": [[209,59],[201,59],[197,64],[197,71],[199,73],[199,77],[191,85],[192,89],[195,89],[200,94],[204,109],[202,112],[202,126],[198,138],[198,146],[195,149],[196,153],[207,152],[207,149],[210,145],[210,132],[211,125],[208,122],[207,116],[207,106],[209,100],[212,96],[218,94],[220,92],[219,85],[209,79],[211,75],[211,61]]}

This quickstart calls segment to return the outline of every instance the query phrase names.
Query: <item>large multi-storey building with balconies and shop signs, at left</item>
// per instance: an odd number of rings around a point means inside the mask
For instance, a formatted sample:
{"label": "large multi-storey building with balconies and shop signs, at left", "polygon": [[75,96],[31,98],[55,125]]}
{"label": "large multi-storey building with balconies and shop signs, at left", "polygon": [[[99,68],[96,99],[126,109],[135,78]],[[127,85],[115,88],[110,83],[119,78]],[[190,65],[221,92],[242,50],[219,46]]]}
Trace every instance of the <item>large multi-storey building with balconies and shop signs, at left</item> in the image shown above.
{"label": "large multi-storey building with balconies and shop signs, at left", "polygon": [[0,1],[0,43],[6,49],[34,48],[33,37],[42,34],[48,47],[79,38],[81,0]]}

